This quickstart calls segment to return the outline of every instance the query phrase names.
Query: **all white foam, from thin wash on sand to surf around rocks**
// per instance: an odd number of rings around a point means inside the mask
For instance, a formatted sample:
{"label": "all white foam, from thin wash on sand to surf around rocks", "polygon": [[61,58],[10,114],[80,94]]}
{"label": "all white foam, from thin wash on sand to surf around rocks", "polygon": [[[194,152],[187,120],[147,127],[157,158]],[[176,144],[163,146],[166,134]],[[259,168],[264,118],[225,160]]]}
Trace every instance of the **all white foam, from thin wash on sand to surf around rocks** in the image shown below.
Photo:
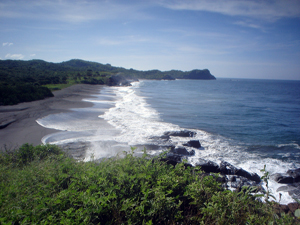
{"label": "all white foam, from thin wash on sand to surf around rocks", "polygon": [[[48,143],[52,141],[52,143],[59,144],[88,141],[91,145],[86,152],[86,160],[90,160],[93,157],[95,159],[108,157],[123,150],[130,150],[129,146],[132,145],[150,143],[152,141],[150,137],[161,136],[166,131],[183,130],[184,128],[162,121],[159,113],[147,103],[146,98],[137,94],[142,82],[133,83],[131,87],[103,88],[100,95],[104,94],[106,97],[113,99],[112,101],[103,100],[103,98],[85,100],[95,103],[95,106],[90,109],[93,109],[94,112],[99,110],[97,118],[78,118],[78,114],[76,114],[78,112],[76,112],[75,114],[49,115],[37,120],[41,126],[73,132],[70,133],[70,136],[62,135],[62,133],[56,136],[53,134],[45,136],[43,142]],[[112,104],[112,107],[104,110],[103,113],[103,110],[101,111],[97,108],[97,104],[100,105],[101,103]],[[101,106],[99,107],[101,108]],[[97,123],[97,119],[106,120],[112,127],[104,128],[103,125]],[[278,159],[263,158],[257,154],[251,154],[244,150],[244,146],[239,146],[232,140],[220,135],[214,135],[202,130],[189,130],[197,133],[197,136],[192,139],[198,139],[202,145],[201,150],[196,150],[195,156],[188,158],[192,164],[195,164],[199,158],[217,163],[224,160],[249,172],[255,172],[260,176],[262,175],[260,170],[264,168],[264,165],[266,165],[266,169],[270,174],[284,173],[288,169],[300,167],[299,164],[295,165]],[[172,142],[182,145],[190,139],[172,137]],[[295,146],[295,143],[292,143],[292,145]],[[149,151],[149,153],[154,153],[154,151]],[[270,179],[269,187],[275,197],[279,196],[279,192],[276,192],[279,186],[281,185]],[[293,201],[287,192],[280,193],[282,194],[281,203]]]}

